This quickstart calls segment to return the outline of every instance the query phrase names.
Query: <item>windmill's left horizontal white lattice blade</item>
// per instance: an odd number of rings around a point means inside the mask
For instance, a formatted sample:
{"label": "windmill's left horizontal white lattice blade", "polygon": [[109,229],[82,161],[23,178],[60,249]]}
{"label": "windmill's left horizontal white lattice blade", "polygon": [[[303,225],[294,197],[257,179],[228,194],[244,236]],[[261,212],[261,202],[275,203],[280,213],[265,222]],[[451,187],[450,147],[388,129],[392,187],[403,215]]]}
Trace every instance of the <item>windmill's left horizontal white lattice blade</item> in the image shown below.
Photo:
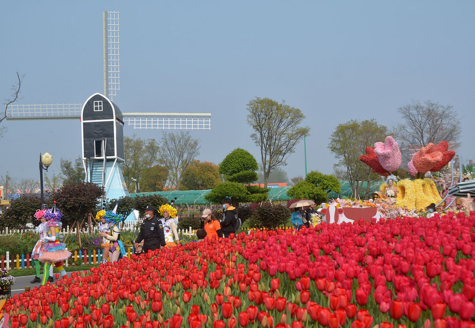
{"label": "windmill's left horizontal white lattice blade", "polygon": [[7,120],[77,119],[82,103],[11,104]]}

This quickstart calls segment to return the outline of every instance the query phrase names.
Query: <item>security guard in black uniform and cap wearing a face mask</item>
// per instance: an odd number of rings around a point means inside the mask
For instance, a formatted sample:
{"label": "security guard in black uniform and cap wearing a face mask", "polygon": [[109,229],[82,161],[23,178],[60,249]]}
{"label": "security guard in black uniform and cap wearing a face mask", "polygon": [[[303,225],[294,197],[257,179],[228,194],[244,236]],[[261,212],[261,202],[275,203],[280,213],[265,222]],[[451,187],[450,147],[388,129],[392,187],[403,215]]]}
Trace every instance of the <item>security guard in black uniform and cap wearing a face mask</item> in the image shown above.
{"label": "security guard in black uniform and cap wearing a face mask", "polygon": [[155,207],[150,205],[145,207],[145,218],[135,244],[143,240],[142,251],[147,253],[149,250],[154,251],[157,248],[163,248],[166,243],[163,225],[161,225],[160,220],[155,218]]}

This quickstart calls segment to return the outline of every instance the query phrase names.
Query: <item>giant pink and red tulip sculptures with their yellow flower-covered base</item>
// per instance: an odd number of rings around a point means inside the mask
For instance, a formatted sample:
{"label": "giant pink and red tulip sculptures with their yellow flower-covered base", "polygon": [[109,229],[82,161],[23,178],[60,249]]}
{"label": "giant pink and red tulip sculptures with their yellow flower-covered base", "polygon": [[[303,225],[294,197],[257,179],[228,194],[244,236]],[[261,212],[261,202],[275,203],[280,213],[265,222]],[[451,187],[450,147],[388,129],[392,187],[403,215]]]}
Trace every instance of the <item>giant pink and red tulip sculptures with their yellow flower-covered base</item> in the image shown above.
{"label": "giant pink and red tulip sculptures with their yellow flower-covered base", "polygon": [[[374,148],[366,147],[366,154],[361,155],[360,160],[371,167],[373,172],[384,177],[392,175],[401,165],[401,151],[391,136],[387,136],[384,143],[376,142]],[[437,145],[429,143],[427,147],[421,147],[408,164],[409,173],[416,179],[400,180],[397,183],[393,179],[398,190],[396,205],[421,211],[431,203],[441,202],[442,198],[434,181],[424,177],[428,172],[437,172],[444,168],[454,156],[455,152],[448,150],[447,141]],[[380,191],[384,192],[386,187],[387,183],[382,183]]]}

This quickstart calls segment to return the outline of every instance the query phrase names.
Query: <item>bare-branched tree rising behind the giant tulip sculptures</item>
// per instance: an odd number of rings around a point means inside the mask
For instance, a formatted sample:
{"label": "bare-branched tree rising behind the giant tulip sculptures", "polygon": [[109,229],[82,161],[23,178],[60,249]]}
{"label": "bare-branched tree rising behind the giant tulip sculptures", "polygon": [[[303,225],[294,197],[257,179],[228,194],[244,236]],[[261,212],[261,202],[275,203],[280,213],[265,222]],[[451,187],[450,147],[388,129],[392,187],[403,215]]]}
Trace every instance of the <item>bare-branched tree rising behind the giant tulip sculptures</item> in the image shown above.
{"label": "bare-branched tree rising behind the giant tulip sculptures", "polygon": [[396,124],[393,130],[395,136],[404,143],[427,146],[429,142],[437,144],[447,140],[453,147],[460,145],[458,141],[462,130],[453,106],[443,106],[430,100],[424,104],[413,101],[399,107],[398,112],[404,123]]}

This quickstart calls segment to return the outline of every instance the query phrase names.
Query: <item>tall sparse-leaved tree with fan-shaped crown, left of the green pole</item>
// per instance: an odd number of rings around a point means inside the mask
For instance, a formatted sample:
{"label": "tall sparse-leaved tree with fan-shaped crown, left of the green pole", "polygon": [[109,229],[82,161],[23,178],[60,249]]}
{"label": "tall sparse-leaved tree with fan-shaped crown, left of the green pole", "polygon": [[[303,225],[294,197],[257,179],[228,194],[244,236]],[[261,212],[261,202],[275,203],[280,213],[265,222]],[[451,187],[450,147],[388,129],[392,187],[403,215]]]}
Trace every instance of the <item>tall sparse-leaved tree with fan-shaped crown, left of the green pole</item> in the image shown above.
{"label": "tall sparse-leaved tree with fan-shaped crown, left of the green pole", "polygon": [[247,123],[254,129],[252,140],[261,150],[264,187],[273,169],[287,165],[295,146],[309,135],[310,128],[302,126],[305,116],[298,108],[283,101],[256,97],[247,103]]}

